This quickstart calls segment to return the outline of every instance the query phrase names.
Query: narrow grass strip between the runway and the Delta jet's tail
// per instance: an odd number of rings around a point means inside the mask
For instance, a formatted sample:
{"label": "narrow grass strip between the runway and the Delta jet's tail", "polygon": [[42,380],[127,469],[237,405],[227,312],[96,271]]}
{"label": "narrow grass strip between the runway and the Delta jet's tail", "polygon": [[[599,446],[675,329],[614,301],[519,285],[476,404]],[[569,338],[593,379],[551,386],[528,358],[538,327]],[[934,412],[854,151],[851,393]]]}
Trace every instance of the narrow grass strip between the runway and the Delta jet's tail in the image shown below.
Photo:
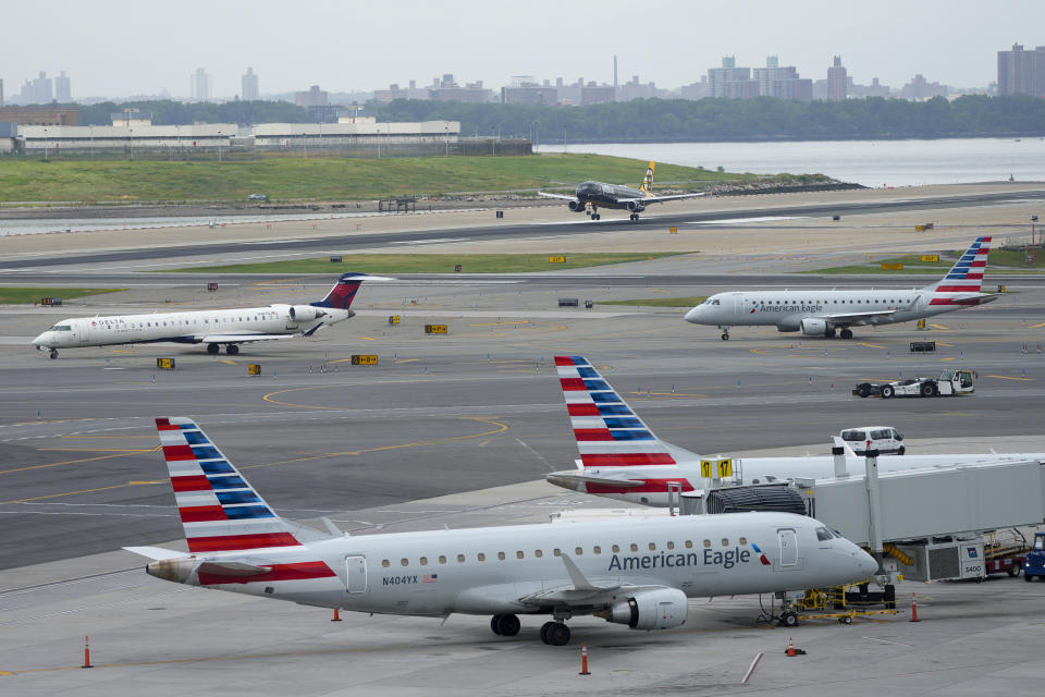
{"label": "narrow grass strip between the runway and the Delta jet's tail", "polygon": [[562,264],[550,262],[546,254],[349,254],[343,255],[341,264],[332,264],[329,257],[320,259],[294,259],[291,261],[266,261],[263,264],[233,264],[229,266],[192,267],[171,269],[175,272],[195,273],[453,273],[460,265],[463,273],[528,273],[532,271],[557,271],[580,269],[625,261],[646,261],[690,252],[654,254],[566,254]]}

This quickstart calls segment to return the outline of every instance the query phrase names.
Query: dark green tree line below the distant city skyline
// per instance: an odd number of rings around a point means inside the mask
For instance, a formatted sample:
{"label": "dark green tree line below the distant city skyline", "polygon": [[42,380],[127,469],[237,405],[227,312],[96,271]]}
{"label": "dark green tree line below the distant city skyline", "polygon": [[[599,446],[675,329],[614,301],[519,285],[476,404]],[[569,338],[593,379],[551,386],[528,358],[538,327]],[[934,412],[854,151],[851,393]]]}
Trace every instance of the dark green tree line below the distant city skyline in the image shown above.
{"label": "dark green tree line below the distant city skyline", "polygon": [[[104,102],[81,107],[84,125],[136,108],[158,125],[192,123],[304,123],[303,107],[285,101],[182,103]],[[380,121],[459,121],[464,136],[532,137],[538,143],[641,140],[760,140],[942,138],[1045,135],[1045,99],[1025,95],[963,96],[948,101],[849,99],[636,99],[588,107],[475,105],[399,99],[369,103]]]}

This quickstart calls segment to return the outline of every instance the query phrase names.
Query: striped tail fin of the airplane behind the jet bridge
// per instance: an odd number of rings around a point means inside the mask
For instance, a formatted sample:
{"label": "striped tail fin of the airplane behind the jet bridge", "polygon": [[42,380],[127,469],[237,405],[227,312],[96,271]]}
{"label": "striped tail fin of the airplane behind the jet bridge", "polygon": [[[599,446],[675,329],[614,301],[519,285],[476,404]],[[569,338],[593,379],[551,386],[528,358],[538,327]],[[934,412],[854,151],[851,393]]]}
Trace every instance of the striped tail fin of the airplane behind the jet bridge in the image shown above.
{"label": "striped tail fin of the airplane behind the jet bridge", "polygon": [[583,356],[555,356],[555,366],[585,468],[677,465]]}

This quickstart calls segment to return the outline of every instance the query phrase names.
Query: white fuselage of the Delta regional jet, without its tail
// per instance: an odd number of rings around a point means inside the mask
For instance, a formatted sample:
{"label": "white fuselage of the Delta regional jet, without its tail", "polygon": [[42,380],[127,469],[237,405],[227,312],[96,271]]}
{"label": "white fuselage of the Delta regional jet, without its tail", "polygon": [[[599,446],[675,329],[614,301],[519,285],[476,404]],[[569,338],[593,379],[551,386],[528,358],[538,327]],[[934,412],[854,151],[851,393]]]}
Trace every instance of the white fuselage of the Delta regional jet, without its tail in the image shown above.
{"label": "white fuselage of the Delta regional jet, without its tail", "polygon": [[322,316],[304,320],[292,318],[290,308],[290,305],[270,305],[64,319],[34,339],[33,345],[70,348],[151,342],[194,344],[218,334],[307,333],[317,326],[333,325],[352,316],[351,310],[323,307],[319,308]]}

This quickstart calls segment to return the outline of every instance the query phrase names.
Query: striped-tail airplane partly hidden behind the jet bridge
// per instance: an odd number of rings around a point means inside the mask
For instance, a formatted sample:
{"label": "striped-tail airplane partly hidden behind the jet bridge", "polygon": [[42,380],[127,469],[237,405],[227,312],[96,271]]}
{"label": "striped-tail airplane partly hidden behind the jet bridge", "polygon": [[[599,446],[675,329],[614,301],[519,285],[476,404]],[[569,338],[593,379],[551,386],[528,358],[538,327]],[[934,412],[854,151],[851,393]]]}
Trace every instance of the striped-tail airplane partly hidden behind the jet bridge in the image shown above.
{"label": "striped-tail airplane partly hidden behind the jet bridge", "polygon": [[[678,482],[683,492],[711,488],[711,478],[701,474],[701,456],[657,438],[583,356],[555,356],[555,365],[580,460],[576,469],[546,475],[549,482],[653,506],[668,505],[668,482]],[[834,443],[831,456],[733,458],[732,480],[757,485],[864,472],[863,457],[838,437]],[[1028,460],[1045,461],[1045,453],[888,455],[878,457],[878,472]]]}

